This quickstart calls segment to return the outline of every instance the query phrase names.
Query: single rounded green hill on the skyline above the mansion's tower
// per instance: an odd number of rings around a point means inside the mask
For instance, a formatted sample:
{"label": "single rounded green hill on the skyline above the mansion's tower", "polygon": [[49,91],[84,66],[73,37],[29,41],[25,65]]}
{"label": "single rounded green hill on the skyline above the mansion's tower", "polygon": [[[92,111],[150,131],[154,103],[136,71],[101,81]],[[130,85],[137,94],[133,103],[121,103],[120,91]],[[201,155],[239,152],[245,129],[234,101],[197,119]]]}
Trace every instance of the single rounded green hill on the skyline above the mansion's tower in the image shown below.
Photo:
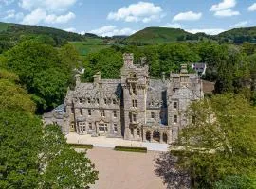
{"label": "single rounded green hill on the skyline above the mansion's tower", "polygon": [[176,28],[147,27],[122,41],[127,44],[160,44],[183,41],[191,33]]}

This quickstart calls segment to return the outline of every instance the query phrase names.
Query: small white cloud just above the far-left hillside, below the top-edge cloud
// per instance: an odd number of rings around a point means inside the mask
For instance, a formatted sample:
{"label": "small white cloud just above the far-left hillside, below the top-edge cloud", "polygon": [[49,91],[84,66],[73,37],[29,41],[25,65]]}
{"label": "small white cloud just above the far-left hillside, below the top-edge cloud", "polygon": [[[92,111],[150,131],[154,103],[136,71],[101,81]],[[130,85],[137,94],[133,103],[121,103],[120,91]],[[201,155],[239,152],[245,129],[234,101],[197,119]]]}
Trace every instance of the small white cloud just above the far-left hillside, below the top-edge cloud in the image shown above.
{"label": "small white cloud just above the far-left hillside, below the top-edge cloud", "polygon": [[35,9],[30,14],[27,14],[22,23],[26,25],[36,25],[46,18],[46,11],[44,9]]}

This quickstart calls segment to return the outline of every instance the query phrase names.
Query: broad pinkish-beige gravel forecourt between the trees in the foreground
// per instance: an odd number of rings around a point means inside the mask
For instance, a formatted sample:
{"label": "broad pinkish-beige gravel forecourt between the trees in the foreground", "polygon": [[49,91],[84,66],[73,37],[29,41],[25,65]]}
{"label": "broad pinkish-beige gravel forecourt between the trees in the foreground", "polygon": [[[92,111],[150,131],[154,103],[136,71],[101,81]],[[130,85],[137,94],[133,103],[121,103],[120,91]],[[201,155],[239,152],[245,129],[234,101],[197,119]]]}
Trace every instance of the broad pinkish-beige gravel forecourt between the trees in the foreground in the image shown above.
{"label": "broad pinkish-beige gravel forecourt between the trees in the foreground", "polygon": [[92,189],[165,189],[155,175],[155,157],[160,152],[122,152],[94,147],[87,156],[95,163],[99,180]]}

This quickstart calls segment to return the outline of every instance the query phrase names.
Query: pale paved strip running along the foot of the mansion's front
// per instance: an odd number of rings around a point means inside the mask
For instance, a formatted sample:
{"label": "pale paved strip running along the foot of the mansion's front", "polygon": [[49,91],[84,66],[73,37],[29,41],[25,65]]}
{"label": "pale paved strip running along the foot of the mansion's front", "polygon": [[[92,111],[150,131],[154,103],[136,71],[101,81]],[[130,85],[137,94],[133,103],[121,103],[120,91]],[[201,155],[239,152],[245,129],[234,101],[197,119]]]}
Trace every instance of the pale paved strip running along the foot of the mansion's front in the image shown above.
{"label": "pale paved strip running along the foot of the mansion's front", "polygon": [[67,134],[66,139],[67,143],[92,144],[96,147],[143,146],[152,151],[167,151],[169,147],[167,144],[127,141],[122,138],[106,138],[104,136],[91,137],[90,135],[79,135],[77,133]]}

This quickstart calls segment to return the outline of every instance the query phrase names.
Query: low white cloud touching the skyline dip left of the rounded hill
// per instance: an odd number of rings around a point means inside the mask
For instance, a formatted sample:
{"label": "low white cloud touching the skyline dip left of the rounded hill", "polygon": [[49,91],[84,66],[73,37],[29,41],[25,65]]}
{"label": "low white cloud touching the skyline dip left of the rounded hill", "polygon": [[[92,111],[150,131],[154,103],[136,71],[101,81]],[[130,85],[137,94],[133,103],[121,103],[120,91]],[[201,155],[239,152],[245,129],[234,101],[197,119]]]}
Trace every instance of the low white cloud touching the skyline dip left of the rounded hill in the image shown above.
{"label": "low white cloud touching the skyline dip left of the rounded hill", "polygon": [[[94,29],[89,31],[89,33],[94,33],[99,36],[115,36],[115,35],[131,35],[137,32],[136,30],[133,30],[131,28],[122,28],[118,29],[117,26],[102,26],[101,28]],[[85,32],[82,32],[83,34]]]}

